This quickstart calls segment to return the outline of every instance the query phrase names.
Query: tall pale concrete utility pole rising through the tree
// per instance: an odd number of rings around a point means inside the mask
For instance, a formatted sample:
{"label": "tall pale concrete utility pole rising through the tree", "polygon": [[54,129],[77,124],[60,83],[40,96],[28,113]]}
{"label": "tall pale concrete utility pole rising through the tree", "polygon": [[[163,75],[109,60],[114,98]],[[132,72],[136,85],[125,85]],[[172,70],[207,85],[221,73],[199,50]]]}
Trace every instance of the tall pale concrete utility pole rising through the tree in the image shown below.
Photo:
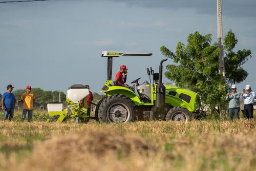
{"label": "tall pale concrete utility pole rising through the tree", "polygon": [[217,0],[217,23],[218,23],[218,47],[220,48],[219,54],[219,72],[225,77],[224,65],[224,50],[223,50],[223,32],[222,32],[222,11],[221,0]]}

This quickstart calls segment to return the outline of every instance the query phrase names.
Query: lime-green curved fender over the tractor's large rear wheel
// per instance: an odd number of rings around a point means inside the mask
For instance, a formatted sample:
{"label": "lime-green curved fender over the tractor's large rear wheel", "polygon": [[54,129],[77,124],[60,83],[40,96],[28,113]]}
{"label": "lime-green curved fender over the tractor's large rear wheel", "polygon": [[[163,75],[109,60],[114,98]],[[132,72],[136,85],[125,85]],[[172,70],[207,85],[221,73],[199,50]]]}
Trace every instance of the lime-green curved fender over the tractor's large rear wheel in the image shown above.
{"label": "lime-green curved fender over the tractor's large rear wheel", "polygon": [[102,90],[106,95],[111,96],[115,94],[122,94],[129,97],[135,105],[141,105],[141,101],[139,97],[129,88],[122,87],[122,86],[110,86],[108,90]]}

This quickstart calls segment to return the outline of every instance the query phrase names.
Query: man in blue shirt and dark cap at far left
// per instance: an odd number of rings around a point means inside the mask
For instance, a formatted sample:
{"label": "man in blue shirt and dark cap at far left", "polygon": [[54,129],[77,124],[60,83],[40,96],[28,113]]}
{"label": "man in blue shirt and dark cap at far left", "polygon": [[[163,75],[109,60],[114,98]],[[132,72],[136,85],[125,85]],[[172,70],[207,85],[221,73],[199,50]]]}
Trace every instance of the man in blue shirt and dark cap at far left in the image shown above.
{"label": "man in blue shirt and dark cap at far left", "polygon": [[4,111],[4,119],[6,120],[9,116],[9,121],[13,118],[14,113],[14,106],[16,103],[16,99],[12,94],[12,87],[11,84],[7,86],[7,92],[5,92],[2,96],[2,110]]}

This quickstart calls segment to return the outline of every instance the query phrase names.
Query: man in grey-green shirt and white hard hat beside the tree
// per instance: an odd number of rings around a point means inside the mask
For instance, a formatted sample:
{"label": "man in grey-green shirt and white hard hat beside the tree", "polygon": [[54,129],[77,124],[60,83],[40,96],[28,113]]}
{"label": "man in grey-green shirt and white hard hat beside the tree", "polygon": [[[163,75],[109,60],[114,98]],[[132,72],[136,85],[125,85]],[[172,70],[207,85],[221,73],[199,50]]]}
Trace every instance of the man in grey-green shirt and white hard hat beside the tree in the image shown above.
{"label": "man in grey-green shirt and white hard hat beside the tree", "polygon": [[229,111],[229,121],[230,122],[233,120],[234,116],[237,119],[239,119],[240,95],[241,95],[241,93],[237,92],[236,85],[232,85],[231,93],[227,93],[226,100],[229,100],[228,111]]}

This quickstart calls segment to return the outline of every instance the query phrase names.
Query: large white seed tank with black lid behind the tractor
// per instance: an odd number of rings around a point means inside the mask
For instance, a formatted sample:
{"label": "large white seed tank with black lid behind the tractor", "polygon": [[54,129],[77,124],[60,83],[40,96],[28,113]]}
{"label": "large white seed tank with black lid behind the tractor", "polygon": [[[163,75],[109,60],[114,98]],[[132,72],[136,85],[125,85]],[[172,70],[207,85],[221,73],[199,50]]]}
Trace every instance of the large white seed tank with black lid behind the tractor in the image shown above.
{"label": "large white seed tank with black lid behind the tractor", "polygon": [[74,103],[78,103],[89,94],[89,89],[86,89],[82,84],[74,84],[67,91],[67,99],[70,99]]}

